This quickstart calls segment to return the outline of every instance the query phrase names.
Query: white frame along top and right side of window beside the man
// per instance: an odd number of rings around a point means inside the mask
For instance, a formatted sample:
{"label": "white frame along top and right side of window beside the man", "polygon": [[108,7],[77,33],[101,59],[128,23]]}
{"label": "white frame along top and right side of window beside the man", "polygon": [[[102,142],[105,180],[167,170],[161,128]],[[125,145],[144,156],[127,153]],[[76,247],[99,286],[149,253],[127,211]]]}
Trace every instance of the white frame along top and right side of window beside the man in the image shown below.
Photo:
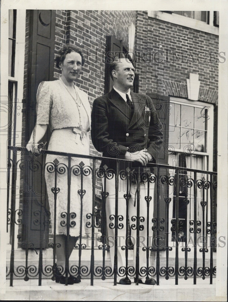
{"label": "white frame along top and right side of window beside the man", "polygon": [[[205,152],[194,152],[194,154],[202,155],[202,156],[208,156],[208,171],[213,170],[213,124],[214,124],[214,106],[213,104],[209,103],[203,103],[200,101],[189,101],[187,99],[183,98],[173,98],[170,97],[170,102],[182,104],[182,105],[188,105],[192,107],[198,107],[198,108],[208,108],[208,117],[210,117],[207,120],[207,153]],[[175,149],[176,152],[181,152],[180,149]],[[182,151],[183,152],[183,151]]]}

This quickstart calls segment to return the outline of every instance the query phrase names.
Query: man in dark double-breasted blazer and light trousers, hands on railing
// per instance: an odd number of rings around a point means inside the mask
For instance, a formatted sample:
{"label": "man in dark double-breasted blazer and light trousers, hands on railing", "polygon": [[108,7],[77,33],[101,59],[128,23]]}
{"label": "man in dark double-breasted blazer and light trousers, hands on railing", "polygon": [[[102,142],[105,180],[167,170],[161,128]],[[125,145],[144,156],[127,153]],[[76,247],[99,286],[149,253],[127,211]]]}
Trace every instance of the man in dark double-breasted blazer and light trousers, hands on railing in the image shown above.
{"label": "man in dark double-breasted blazer and light trousers, hands on railing", "polygon": [[[109,193],[106,200],[106,215],[107,215],[107,238],[115,239],[115,229],[111,227],[113,217],[115,215],[115,197],[118,194],[118,217],[122,216],[123,220],[118,219],[118,272],[121,267],[126,267],[125,250],[121,247],[126,247],[126,228],[127,219],[131,225],[131,236],[136,239],[137,230],[134,227],[134,217],[137,216],[137,206],[140,198],[140,217],[144,217],[145,221],[140,222],[143,225],[143,230],[140,230],[140,237],[144,238],[146,245],[147,233],[147,203],[145,196],[148,195],[147,182],[143,182],[139,173],[141,168],[145,168],[148,162],[156,162],[158,152],[162,143],[163,135],[161,132],[161,123],[157,116],[152,100],[142,94],[131,92],[130,88],[134,82],[134,66],[127,58],[115,59],[110,64],[110,76],[114,81],[114,87],[108,94],[94,100],[91,120],[91,138],[94,147],[103,152],[103,157],[125,159],[130,164],[130,171],[137,172],[135,180],[126,184],[126,179],[118,179],[118,192],[115,189],[115,177],[107,179],[106,191]],[[108,169],[117,171],[116,161],[104,159],[101,167],[106,165]],[[126,164],[127,165],[127,164]],[[119,162],[119,170],[126,168],[123,161]],[[140,168],[141,167],[141,168]],[[140,168],[140,169],[139,169]],[[129,169],[128,169],[129,171]],[[129,178],[128,178],[129,179]],[[104,182],[103,182],[104,183]],[[141,184],[139,184],[141,183]],[[130,185],[130,190],[129,190]],[[150,184],[150,221],[153,217],[153,185]],[[126,188],[130,191],[128,198],[128,213],[126,212]],[[151,190],[152,188],[152,190]],[[104,187],[103,187],[104,189]],[[128,191],[128,192],[129,192]],[[138,198],[137,198],[138,197]],[[152,213],[152,214],[151,214]],[[113,225],[112,225],[113,226]],[[151,226],[150,226],[151,231]],[[136,240],[132,240],[136,243]],[[113,243],[113,242],[112,242]],[[136,265],[136,244],[134,244],[134,265]],[[114,244],[110,244],[110,256],[112,266],[114,267]],[[148,254],[147,254],[148,255]],[[139,269],[137,275],[140,276],[138,283],[156,284],[152,278],[147,280],[140,274],[140,268],[147,267],[146,252],[139,246]],[[149,265],[150,266],[150,265]],[[120,279],[120,278],[119,278]],[[136,281],[137,282],[137,278]],[[131,284],[131,280],[126,276],[119,280],[120,284]]]}

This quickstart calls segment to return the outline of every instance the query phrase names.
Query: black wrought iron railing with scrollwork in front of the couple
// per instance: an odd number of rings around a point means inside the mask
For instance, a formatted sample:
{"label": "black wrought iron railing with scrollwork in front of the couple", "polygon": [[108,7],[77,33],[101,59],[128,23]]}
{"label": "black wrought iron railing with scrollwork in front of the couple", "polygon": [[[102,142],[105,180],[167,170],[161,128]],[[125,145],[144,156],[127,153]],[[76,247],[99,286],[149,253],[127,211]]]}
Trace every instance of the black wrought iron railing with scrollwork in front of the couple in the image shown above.
{"label": "black wrought iron railing with scrollwork in front of the couple", "polygon": [[[102,159],[98,156],[86,156],[70,153],[59,153],[54,151],[40,150],[39,156],[29,156],[23,147],[8,147],[8,194],[7,194],[7,227],[10,234],[11,254],[10,263],[7,265],[6,274],[10,279],[10,286],[13,285],[14,278],[23,278],[28,281],[30,278],[38,278],[38,285],[41,285],[42,279],[50,278],[55,280],[55,261],[56,249],[60,244],[56,240],[56,208],[54,209],[55,218],[51,221],[48,210],[48,202],[45,188],[45,173],[52,173],[55,179],[51,192],[56,200],[60,192],[58,186],[58,176],[66,175],[67,188],[66,200],[67,210],[61,213],[61,226],[66,229],[67,243],[70,238],[70,229],[75,227],[75,217],[80,217],[80,236],[74,246],[78,250],[78,259],[76,262],[69,260],[68,244],[66,250],[65,277],[66,285],[68,276],[81,278],[90,278],[91,285],[94,279],[105,280],[113,278],[114,285],[117,284],[117,277],[135,277],[136,284],[142,277],[155,278],[157,285],[160,278],[168,280],[175,278],[175,284],[178,284],[179,278],[193,278],[193,284],[197,283],[197,278],[209,278],[212,284],[213,277],[216,275],[216,266],[214,254],[216,251],[216,172],[200,171],[183,167],[169,165],[148,164],[153,168],[152,172],[141,172],[140,169],[119,168],[119,162],[124,160],[110,159],[116,162],[116,168],[111,170],[104,166],[99,169],[99,163]],[[56,156],[58,159],[45,163],[47,155]],[[18,159],[19,156],[19,159]],[[60,162],[60,157],[65,161]],[[53,157],[53,158],[54,158]],[[77,165],[72,165],[74,159],[79,159]],[[90,160],[89,165],[84,161]],[[66,164],[67,163],[67,164]],[[129,164],[129,162],[128,162]],[[117,177],[118,175],[118,177]],[[21,179],[19,188],[16,184],[18,177]],[[78,179],[80,188],[77,193],[80,196],[80,213],[71,212],[71,187],[75,185],[72,177]],[[87,178],[91,179],[91,195],[86,192],[84,183]],[[107,226],[106,202],[109,197],[107,191],[107,182],[111,179],[115,187],[115,213],[111,215],[111,221]],[[120,192],[120,180],[125,183],[126,193],[126,218],[118,213],[118,194]],[[37,185],[40,183],[40,185]],[[99,191],[99,185],[103,183]],[[140,183],[147,185],[147,195],[140,195]],[[128,213],[129,200],[131,196],[131,185],[134,184],[135,203],[137,214],[130,216]],[[149,188],[153,188],[149,190]],[[88,189],[88,187],[87,187]],[[17,193],[18,190],[18,193]],[[101,196],[101,207],[96,204],[96,192]],[[153,195],[153,196],[152,196]],[[141,196],[141,198],[140,198]],[[16,208],[20,199],[19,208]],[[36,200],[37,209],[33,211],[31,203]],[[90,211],[83,213],[85,202],[90,204]],[[144,204],[143,204],[144,202]],[[140,216],[140,207],[147,208],[147,217]],[[153,217],[150,217],[150,209],[153,207]],[[31,209],[28,213],[28,208]],[[30,216],[29,216],[30,215]],[[83,222],[83,215],[85,220]],[[28,221],[29,217],[29,221]],[[123,221],[125,225],[123,224]],[[152,223],[152,226],[151,226]],[[85,226],[84,226],[85,224]],[[18,265],[15,262],[15,238],[20,237],[15,233],[15,226],[22,227],[20,249],[24,250],[24,263]],[[29,238],[31,226],[36,226],[39,234],[38,239],[34,241]],[[83,227],[87,230],[87,239],[83,237]],[[107,261],[106,254],[109,251],[110,243],[106,240],[107,228],[114,230],[114,265]],[[126,266],[117,266],[117,248],[118,232],[121,229],[126,230],[125,246],[121,249],[125,251]],[[52,230],[53,236],[48,236],[48,246],[45,245],[45,230]],[[97,245],[97,231],[101,231],[100,242]],[[132,249],[131,231],[136,230],[136,260],[132,262],[129,254]],[[140,232],[146,230],[146,237],[140,240]],[[152,232],[152,236],[150,236]],[[84,238],[84,239],[83,239]],[[131,239],[131,240],[130,240]],[[20,240],[19,240],[20,241]],[[38,246],[35,245],[38,242]],[[85,243],[86,241],[86,243]],[[140,246],[143,242],[144,246]],[[134,243],[134,242],[133,242]],[[37,244],[37,243],[36,243]],[[89,246],[88,246],[89,245]],[[172,245],[172,246],[171,246]],[[182,248],[180,248],[182,246]],[[139,267],[139,249],[146,253],[146,266]],[[30,249],[38,251],[38,260],[29,264],[28,254]],[[52,249],[52,259],[50,263],[43,262],[44,252]],[[94,250],[99,252],[99,261],[94,259]],[[89,251],[90,261],[83,260],[83,253]],[[173,254],[173,252],[175,252]],[[192,257],[189,257],[190,253]],[[181,258],[180,253],[184,253]],[[206,255],[210,254],[209,257]],[[153,256],[153,257],[152,257]],[[34,260],[35,261],[35,260]]]}

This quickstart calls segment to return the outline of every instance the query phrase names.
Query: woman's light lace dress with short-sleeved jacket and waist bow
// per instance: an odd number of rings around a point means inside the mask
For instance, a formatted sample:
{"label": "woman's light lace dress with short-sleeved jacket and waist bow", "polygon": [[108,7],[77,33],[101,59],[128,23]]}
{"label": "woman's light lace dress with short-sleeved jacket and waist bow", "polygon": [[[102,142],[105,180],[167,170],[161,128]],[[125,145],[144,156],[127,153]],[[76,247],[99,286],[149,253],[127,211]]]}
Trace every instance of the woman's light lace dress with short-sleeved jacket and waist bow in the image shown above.
{"label": "woman's light lace dress with short-sleeved jacket and waist bow", "polygon": [[[52,130],[48,150],[89,155],[88,131],[90,130],[91,108],[88,95],[76,86],[75,89],[78,99],[80,99],[80,106],[77,106],[61,80],[42,82],[37,93],[37,124],[49,124]],[[81,234],[85,236],[85,233],[89,235],[91,232],[85,226],[87,221],[90,222],[86,214],[92,213],[90,161],[77,157],[70,157],[70,159],[69,167],[66,156],[48,154],[46,157],[45,181],[51,212],[52,233],[67,234],[67,209],[69,206],[69,234],[79,236],[82,221]],[[81,177],[83,186],[81,186]],[[78,192],[78,190],[81,191]],[[85,193],[81,203],[79,193],[82,193],[82,190],[85,190]]]}

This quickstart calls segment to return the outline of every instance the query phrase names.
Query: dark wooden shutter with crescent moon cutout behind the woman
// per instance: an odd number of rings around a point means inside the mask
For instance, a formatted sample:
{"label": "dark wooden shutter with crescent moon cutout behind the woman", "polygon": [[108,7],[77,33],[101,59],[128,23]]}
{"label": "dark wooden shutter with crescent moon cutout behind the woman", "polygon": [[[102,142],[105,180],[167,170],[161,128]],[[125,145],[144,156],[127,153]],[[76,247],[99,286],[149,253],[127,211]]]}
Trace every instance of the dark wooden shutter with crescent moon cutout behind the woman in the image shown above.
{"label": "dark wooden shutter with crescent moon cutout behind the woman", "polygon": [[[36,92],[41,81],[53,80],[55,51],[55,11],[29,11],[27,90],[25,98],[25,144],[28,142],[36,121]],[[43,138],[48,141],[50,130]],[[49,213],[44,174],[45,157],[35,159],[24,154],[23,161],[23,223],[22,247],[48,247]],[[38,167],[37,171],[33,166]],[[44,170],[43,170],[44,171]],[[34,182],[32,181],[34,180]],[[42,221],[40,217],[42,216]],[[42,228],[41,228],[42,226]],[[40,233],[40,228],[42,234]],[[40,236],[41,235],[41,236]],[[26,243],[26,245],[25,245]]]}

